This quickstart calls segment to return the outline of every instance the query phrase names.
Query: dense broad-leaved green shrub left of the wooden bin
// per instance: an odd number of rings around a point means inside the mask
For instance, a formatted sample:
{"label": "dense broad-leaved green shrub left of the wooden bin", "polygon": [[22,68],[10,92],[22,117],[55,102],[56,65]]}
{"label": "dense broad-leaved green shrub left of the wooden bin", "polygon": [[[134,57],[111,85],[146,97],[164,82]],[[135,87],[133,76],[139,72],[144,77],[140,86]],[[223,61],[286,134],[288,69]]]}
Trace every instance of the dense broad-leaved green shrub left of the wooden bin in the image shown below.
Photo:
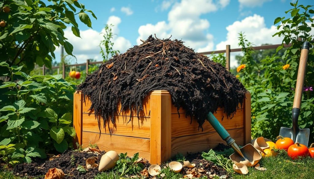
{"label": "dense broad-leaved green shrub left of the wooden bin", "polygon": [[[73,110],[73,83],[64,81],[62,75],[28,76],[21,72],[23,66],[6,62],[0,67],[1,79],[11,80],[0,86],[0,154],[12,158],[2,160],[29,163],[30,157],[45,158],[45,152],[54,148],[59,152],[68,149],[75,137],[72,113],[68,113]],[[12,144],[14,153],[7,149]]]}

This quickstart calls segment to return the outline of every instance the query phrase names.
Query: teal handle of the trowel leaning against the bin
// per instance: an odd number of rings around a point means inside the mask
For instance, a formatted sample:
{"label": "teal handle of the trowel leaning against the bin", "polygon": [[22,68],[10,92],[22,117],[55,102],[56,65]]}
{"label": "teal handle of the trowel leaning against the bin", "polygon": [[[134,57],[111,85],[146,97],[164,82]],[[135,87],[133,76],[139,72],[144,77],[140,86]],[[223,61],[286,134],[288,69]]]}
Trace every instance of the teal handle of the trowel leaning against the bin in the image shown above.
{"label": "teal handle of the trowel leaning against the bin", "polygon": [[226,129],[219,123],[217,118],[214,116],[212,112],[207,114],[208,122],[214,127],[220,137],[227,142],[227,145],[232,145],[235,140],[230,137],[230,134],[226,131]]}

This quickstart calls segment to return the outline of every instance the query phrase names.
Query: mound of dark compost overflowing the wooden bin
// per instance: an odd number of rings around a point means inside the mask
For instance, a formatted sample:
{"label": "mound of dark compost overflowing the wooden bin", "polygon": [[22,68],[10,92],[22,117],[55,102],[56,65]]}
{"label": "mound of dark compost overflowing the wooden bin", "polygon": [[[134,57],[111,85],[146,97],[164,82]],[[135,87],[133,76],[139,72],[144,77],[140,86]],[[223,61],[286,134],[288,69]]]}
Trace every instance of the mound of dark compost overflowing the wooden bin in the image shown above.
{"label": "mound of dark compost overflowing the wooden bin", "polygon": [[[246,89],[224,66],[183,45],[181,40],[149,36],[142,45],[116,55],[87,76],[78,89],[90,97],[91,108],[115,123],[121,111],[143,110],[143,98],[154,90],[167,90],[172,103],[195,116],[202,128],[208,112],[225,108],[228,116],[242,105]],[[120,112],[121,112],[120,111]]]}

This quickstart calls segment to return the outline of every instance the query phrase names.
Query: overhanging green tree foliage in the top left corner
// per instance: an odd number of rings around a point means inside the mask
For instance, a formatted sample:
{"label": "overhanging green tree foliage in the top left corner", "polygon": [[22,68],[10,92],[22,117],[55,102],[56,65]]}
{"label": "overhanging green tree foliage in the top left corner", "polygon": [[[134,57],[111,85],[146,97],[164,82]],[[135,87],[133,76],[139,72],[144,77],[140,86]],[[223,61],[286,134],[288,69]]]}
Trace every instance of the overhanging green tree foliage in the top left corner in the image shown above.
{"label": "overhanging green tree foliage in the top left corner", "polygon": [[73,34],[80,37],[77,17],[88,27],[91,21],[86,12],[96,18],[84,4],[74,0],[4,0],[0,9],[4,6],[8,6],[10,12],[0,12],[6,22],[0,32],[0,60],[10,66],[24,65],[23,71],[31,71],[34,64],[51,67],[55,46],[63,45],[72,55],[73,45],[64,37],[65,24],[72,25]]}

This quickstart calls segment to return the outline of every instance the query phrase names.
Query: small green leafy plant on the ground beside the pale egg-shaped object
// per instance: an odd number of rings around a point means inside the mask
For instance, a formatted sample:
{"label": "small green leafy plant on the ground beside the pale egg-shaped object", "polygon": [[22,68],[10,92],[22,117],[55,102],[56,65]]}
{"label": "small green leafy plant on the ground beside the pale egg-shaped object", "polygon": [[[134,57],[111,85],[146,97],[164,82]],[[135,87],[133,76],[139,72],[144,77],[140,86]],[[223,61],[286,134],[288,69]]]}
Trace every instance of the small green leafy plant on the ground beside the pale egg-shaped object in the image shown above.
{"label": "small green leafy plant on the ground beside the pale egg-shaped object", "polygon": [[119,160],[116,162],[115,170],[121,173],[120,176],[137,174],[144,168],[143,164],[137,160],[138,153],[134,154],[133,157],[127,157],[127,153],[121,153]]}

